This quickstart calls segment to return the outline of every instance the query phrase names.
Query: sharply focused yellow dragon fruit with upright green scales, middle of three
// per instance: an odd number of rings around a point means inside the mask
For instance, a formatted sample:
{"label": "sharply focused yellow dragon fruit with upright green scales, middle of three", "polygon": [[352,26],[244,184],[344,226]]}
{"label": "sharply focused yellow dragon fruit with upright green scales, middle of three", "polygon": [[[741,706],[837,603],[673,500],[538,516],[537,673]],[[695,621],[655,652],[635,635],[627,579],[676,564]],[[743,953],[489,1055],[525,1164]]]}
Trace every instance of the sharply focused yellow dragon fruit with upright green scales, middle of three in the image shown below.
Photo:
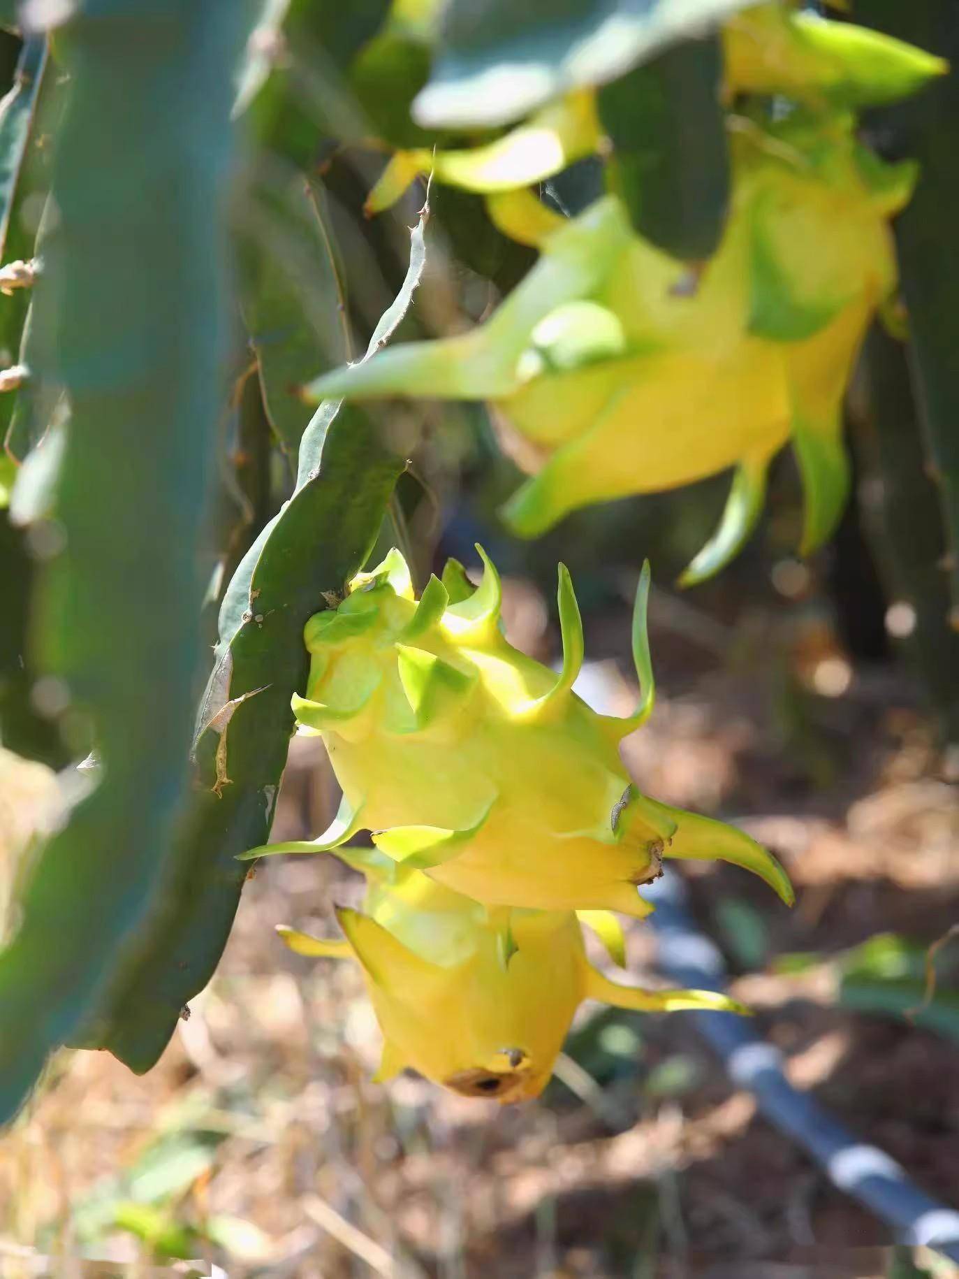
{"label": "sharply focused yellow dragon fruit with upright green scales, middle of three", "polygon": [[734,862],[791,900],[783,868],[753,839],[647,798],[623,767],[619,742],[653,701],[648,565],[633,624],[642,703],[615,719],[572,691],[583,631],[565,568],[556,674],[504,638],[499,577],[480,554],[478,588],[451,564],[416,601],[394,550],[353,579],[338,609],[309,619],[307,696],[294,694],[293,710],[300,732],[322,735],[343,804],[317,840],[246,856],[325,852],[367,829],[394,861],[490,907],[642,918],[650,907],[637,886],[660,874],[662,857]]}

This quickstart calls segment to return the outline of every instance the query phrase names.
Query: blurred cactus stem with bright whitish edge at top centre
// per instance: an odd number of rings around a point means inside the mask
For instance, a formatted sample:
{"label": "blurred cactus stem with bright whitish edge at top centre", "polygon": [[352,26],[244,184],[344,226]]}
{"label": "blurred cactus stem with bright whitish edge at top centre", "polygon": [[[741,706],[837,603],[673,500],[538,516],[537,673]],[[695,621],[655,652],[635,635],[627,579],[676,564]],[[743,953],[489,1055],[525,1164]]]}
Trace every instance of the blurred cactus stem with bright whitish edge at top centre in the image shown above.
{"label": "blurred cactus stem with bright whitish edge at top centre", "polygon": [[604,84],[751,0],[449,0],[430,82],[428,128],[508,124],[551,97]]}

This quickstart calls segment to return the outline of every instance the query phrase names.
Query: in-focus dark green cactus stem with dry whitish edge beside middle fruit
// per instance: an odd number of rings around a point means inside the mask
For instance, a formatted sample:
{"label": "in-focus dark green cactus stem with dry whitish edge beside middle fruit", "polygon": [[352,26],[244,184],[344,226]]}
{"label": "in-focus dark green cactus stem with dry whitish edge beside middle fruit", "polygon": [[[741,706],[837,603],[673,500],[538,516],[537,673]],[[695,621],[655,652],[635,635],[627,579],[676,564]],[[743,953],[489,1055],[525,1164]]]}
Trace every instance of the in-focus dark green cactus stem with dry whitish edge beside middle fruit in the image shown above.
{"label": "in-focus dark green cactus stem with dry whitish edge beside middle fruit", "polygon": [[[407,276],[371,350],[389,340],[419,283],[427,216],[423,210],[413,229]],[[180,1009],[216,968],[248,874],[237,856],[270,834],[294,724],[290,696],[307,677],[303,625],[318,600],[343,597],[376,541],[404,466],[370,416],[339,400],[321,404],[300,440],[292,499],[226,590],[197,715],[198,789],[178,843],[175,909],[144,943],[139,967],[96,1039],[137,1072],[155,1064]]]}

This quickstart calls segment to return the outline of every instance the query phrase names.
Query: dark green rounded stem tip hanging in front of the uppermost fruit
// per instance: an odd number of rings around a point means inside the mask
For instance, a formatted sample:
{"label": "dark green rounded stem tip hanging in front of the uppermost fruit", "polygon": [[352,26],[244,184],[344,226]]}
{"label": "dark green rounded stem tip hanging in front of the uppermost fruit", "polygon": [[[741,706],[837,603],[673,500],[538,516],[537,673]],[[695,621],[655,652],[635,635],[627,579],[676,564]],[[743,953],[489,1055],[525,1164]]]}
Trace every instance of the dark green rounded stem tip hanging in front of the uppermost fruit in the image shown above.
{"label": "dark green rounded stem tip hanging in front of the uppermost fruit", "polygon": [[703,261],[722,235],[729,155],[717,36],[688,40],[604,86],[612,142],[607,180],[635,230],[666,253]]}

